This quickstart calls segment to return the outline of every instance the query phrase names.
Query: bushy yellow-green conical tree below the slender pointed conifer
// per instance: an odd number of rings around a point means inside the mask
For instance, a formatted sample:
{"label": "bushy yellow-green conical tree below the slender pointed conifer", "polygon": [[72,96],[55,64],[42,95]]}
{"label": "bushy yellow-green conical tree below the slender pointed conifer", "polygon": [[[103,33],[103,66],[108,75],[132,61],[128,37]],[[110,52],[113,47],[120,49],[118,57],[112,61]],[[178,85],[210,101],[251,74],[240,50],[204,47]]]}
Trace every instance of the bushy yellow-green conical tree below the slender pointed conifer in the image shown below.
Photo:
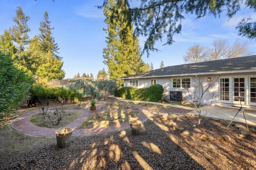
{"label": "bushy yellow-green conical tree below the slender pointed conifer", "polygon": [[62,66],[63,62],[60,59],[55,59],[49,51],[46,55],[46,61],[39,66],[36,75],[49,80],[62,80],[65,77],[65,72],[61,69]]}

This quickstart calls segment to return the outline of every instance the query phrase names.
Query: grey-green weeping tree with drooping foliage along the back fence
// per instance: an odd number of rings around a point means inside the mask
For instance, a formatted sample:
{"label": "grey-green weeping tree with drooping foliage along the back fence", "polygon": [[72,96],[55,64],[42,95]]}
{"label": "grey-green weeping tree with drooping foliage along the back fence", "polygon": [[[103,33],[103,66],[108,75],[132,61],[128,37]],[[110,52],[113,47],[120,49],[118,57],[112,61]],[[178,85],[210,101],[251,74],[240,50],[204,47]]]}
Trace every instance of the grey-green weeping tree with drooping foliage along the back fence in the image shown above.
{"label": "grey-green weeping tree with drooping foliage along the back fence", "polygon": [[82,90],[85,96],[91,96],[98,99],[100,98],[100,92],[102,91],[113,94],[114,89],[116,88],[116,82],[110,80],[92,81],[80,79],[70,82],[67,87]]}

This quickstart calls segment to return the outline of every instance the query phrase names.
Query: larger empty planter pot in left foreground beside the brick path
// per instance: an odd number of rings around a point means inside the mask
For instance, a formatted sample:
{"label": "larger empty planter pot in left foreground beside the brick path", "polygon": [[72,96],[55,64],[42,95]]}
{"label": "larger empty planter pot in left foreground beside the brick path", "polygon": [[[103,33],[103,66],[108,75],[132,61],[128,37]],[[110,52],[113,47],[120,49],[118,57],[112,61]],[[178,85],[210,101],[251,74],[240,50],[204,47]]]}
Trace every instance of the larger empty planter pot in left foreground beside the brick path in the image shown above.
{"label": "larger empty planter pot in left foreground beside the brick path", "polygon": [[73,128],[63,128],[55,131],[57,146],[59,148],[64,148],[68,146],[68,143],[70,142],[73,131],[74,131]]}

